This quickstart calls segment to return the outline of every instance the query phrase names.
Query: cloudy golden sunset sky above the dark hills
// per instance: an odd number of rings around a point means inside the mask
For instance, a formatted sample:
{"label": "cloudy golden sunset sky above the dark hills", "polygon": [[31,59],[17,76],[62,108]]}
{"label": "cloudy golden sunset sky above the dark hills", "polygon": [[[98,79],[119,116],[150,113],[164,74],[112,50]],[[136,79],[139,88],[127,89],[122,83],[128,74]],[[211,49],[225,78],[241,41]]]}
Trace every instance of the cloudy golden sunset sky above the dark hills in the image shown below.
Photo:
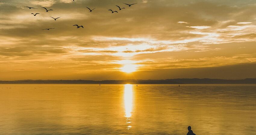
{"label": "cloudy golden sunset sky above the dark hills", "polygon": [[255,9],[255,0],[0,0],[0,80],[256,78]]}

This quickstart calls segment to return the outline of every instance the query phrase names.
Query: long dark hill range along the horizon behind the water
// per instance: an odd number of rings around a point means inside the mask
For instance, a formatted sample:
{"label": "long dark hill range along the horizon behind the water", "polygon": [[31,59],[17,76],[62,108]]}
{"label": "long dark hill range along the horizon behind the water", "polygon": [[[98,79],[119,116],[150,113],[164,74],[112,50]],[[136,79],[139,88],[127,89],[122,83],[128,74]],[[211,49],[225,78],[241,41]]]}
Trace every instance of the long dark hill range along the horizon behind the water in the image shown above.
{"label": "long dark hill range along the horizon behind the water", "polygon": [[0,81],[0,84],[256,84],[256,78],[240,80],[225,79],[165,79],[165,80],[16,80]]}

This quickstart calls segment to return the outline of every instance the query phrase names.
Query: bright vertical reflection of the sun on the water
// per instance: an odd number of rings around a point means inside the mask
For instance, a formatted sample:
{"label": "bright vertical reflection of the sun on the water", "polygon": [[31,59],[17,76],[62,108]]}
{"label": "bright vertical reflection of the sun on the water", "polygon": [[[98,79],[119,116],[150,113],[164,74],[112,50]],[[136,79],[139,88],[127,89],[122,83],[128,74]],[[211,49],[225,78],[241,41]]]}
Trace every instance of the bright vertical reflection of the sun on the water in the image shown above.
{"label": "bright vertical reflection of the sun on the water", "polygon": [[[124,85],[124,107],[126,124],[130,124],[130,117],[132,116],[133,110],[133,85],[131,84]],[[129,130],[130,128],[132,128],[132,126],[128,125],[127,129]]]}

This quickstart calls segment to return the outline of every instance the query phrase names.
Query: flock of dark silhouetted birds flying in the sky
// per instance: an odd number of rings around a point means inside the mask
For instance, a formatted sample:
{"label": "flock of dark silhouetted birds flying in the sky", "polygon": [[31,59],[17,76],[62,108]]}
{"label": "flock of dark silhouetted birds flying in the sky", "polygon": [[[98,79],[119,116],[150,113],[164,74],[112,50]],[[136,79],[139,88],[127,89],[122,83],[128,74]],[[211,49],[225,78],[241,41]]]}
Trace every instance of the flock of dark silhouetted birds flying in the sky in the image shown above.
{"label": "flock of dark silhouetted birds flying in the sky", "polygon": [[[73,0],[73,1],[75,1],[75,0]],[[126,3],[123,3],[123,4],[126,4]],[[126,5],[128,5],[129,7],[131,7],[132,5],[134,5],[134,4],[137,4],[137,3],[133,3],[133,4],[126,4]],[[120,6],[118,6],[118,5],[116,5],[118,8],[119,8],[119,10],[122,10],[122,9],[124,9],[125,7],[120,7]],[[24,7],[27,7],[27,6],[24,6]],[[35,8],[35,7],[27,7],[27,8],[29,8],[29,9],[32,9],[32,8],[34,8],[34,9],[37,9],[37,8]],[[48,11],[50,11],[50,10],[52,10],[52,9],[47,9],[47,8],[45,8],[45,7],[42,7],[42,8],[44,8],[45,10],[46,10],[46,12],[48,12]],[[90,12],[92,12],[92,10],[94,10],[95,8],[93,8],[93,9],[90,9],[89,7],[86,7],[86,8],[88,8],[89,10],[90,10]],[[112,13],[114,13],[114,12],[116,12],[116,13],[118,13],[116,10],[112,10],[112,9],[109,9],[109,11],[111,11]],[[31,13],[31,14],[33,14],[34,16],[36,16],[37,14],[40,14],[40,13]],[[50,17],[52,17],[52,16],[50,16]],[[53,17],[52,17],[53,18]],[[57,18],[53,18],[55,21],[58,19],[58,18],[61,18],[61,17],[57,17]],[[73,25],[73,26],[76,26],[76,28],[78,29],[78,28],[80,28],[80,27],[82,27],[83,28],[83,26],[81,25],[81,26],[79,26],[78,24],[75,24],[75,25]],[[55,29],[55,28],[48,28],[48,29],[42,29],[42,30],[50,30],[50,29]]]}

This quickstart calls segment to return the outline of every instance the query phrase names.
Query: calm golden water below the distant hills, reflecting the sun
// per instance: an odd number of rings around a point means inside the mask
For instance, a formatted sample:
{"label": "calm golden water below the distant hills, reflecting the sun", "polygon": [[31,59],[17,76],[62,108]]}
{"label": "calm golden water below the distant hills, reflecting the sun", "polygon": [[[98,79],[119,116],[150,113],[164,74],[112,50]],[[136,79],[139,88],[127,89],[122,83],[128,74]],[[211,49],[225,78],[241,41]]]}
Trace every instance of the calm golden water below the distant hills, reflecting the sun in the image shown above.
{"label": "calm golden water below the distant hills, reflecting the sun", "polygon": [[256,134],[256,85],[0,85],[0,134]]}

